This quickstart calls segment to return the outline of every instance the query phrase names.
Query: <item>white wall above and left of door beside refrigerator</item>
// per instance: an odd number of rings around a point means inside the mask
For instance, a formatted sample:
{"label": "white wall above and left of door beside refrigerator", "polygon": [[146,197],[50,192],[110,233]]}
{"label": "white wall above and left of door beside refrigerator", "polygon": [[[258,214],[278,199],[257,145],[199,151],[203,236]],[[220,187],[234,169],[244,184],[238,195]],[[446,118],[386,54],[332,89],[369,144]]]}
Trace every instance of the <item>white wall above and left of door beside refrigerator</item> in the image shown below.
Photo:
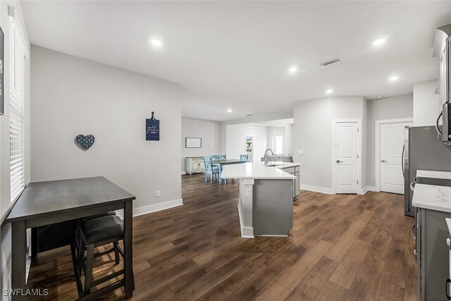
{"label": "white wall above and left of door beside refrigerator", "polygon": [[366,185],[376,185],[375,170],[375,145],[376,145],[376,121],[412,118],[414,111],[413,94],[400,95],[395,97],[386,97],[381,99],[371,99],[368,101],[368,147],[367,164],[367,183]]}

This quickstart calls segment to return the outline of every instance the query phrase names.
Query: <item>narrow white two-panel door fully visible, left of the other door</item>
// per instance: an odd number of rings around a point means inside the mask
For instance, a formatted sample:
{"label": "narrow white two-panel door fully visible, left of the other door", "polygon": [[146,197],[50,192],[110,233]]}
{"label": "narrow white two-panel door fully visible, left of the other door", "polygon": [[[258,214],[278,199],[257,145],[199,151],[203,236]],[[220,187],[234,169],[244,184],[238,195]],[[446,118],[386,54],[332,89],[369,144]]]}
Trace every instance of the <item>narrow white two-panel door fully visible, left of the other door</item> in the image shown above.
{"label": "narrow white two-panel door fully visible, left of the other door", "polygon": [[358,174],[358,124],[335,123],[335,192],[357,193]]}

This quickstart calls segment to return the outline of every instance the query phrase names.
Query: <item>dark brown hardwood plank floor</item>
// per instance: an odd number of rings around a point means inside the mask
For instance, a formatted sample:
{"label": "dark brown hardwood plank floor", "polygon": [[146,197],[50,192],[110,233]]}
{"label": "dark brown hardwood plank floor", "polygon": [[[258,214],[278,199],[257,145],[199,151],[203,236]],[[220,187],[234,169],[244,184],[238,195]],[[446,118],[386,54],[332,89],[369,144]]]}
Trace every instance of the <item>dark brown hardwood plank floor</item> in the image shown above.
{"label": "dark brown hardwood plank floor", "polygon": [[[302,191],[288,238],[245,239],[238,181],[182,178],[184,206],[133,220],[134,300],[416,300],[402,195]],[[120,268],[106,255],[94,275]],[[39,254],[27,287],[76,299],[69,248]],[[105,297],[118,299],[123,290]]]}

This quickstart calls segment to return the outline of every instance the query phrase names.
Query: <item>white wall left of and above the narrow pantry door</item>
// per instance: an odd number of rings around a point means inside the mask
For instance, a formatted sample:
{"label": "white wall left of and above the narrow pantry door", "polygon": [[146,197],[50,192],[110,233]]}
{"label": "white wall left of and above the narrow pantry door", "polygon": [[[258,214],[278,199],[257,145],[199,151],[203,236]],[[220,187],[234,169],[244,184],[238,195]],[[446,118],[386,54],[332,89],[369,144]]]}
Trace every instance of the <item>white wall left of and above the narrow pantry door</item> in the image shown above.
{"label": "white wall left of and above the narrow pantry door", "polygon": [[[301,185],[331,192],[332,121],[359,118],[363,124],[364,102],[364,97],[325,97],[295,104],[292,150],[294,161],[303,164]],[[301,149],[304,155],[298,154]],[[365,156],[362,153],[362,158]]]}

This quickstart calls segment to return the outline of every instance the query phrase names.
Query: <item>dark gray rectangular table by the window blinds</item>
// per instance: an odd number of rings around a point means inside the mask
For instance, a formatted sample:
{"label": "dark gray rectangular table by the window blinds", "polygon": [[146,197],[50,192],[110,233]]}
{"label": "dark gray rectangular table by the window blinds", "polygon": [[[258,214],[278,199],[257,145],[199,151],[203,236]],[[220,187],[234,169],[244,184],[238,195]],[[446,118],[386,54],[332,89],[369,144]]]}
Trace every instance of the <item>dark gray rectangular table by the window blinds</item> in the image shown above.
{"label": "dark gray rectangular table by the window blinds", "polygon": [[[6,223],[11,223],[12,228],[11,288],[25,291],[27,228],[123,209],[124,288],[125,297],[132,297],[134,289],[132,271],[132,201],[135,198],[134,195],[101,176],[28,184],[5,221]],[[110,287],[109,290],[111,291],[113,288]],[[106,293],[107,291],[103,290],[100,293]],[[13,296],[13,300],[24,299],[25,296],[23,295]]]}

